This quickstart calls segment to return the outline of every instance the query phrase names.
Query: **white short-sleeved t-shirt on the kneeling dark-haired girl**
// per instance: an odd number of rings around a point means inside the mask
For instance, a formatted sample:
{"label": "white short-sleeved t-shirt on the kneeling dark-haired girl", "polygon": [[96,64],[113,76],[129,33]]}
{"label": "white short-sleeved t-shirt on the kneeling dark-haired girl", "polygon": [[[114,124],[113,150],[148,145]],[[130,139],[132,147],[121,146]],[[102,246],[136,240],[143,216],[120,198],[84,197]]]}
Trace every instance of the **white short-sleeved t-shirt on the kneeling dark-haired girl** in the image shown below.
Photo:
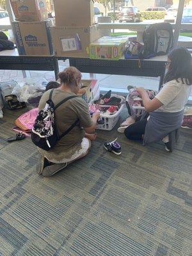
{"label": "white short-sleeved t-shirt on the kneeling dark-haired girl", "polygon": [[179,112],[184,109],[192,92],[192,85],[182,83],[181,79],[176,79],[163,85],[161,91],[156,95],[163,106],[156,111],[159,112]]}

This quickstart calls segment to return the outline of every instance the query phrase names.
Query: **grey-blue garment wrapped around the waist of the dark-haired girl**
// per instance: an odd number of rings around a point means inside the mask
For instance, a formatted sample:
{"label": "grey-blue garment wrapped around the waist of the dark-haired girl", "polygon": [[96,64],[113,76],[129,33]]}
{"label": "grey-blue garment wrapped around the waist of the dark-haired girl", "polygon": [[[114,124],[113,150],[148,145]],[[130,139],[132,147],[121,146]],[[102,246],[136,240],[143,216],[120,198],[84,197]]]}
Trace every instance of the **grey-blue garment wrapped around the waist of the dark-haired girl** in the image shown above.
{"label": "grey-blue garment wrapped around the waist of the dark-haired girl", "polygon": [[143,145],[161,141],[170,132],[179,129],[183,116],[184,110],[175,113],[157,111],[150,113],[150,118],[145,127]]}

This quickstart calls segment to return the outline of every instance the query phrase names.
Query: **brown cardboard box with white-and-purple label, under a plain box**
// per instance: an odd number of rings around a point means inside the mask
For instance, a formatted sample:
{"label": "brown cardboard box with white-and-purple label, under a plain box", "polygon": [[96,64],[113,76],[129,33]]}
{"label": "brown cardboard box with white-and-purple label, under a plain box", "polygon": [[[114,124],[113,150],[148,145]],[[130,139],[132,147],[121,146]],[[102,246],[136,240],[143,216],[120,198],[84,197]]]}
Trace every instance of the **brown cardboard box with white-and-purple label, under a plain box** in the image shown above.
{"label": "brown cardboard box with white-and-purple label, under a plain box", "polygon": [[54,54],[64,57],[88,57],[89,45],[99,38],[98,25],[79,27],[52,27]]}

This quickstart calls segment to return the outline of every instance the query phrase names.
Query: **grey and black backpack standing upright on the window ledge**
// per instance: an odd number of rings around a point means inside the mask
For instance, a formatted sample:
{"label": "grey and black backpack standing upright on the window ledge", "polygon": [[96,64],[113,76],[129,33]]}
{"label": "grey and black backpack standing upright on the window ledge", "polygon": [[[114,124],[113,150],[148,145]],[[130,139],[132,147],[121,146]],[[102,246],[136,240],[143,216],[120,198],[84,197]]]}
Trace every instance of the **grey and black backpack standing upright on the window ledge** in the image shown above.
{"label": "grey and black backpack standing upright on the window ledge", "polygon": [[147,26],[143,32],[143,43],[140,59],[168,54],[173,47],[172,25],[162,22]]}

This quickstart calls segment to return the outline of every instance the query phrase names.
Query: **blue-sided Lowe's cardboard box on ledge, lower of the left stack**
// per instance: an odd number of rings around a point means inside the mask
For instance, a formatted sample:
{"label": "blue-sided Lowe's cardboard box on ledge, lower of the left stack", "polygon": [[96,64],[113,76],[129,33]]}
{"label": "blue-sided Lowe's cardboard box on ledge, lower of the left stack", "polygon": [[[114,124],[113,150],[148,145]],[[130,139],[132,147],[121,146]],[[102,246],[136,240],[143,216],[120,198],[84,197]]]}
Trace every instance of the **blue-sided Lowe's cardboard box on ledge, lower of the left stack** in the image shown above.
{"label": "blue-sided Lowe's cardboard box on ledge, lower of the left stack", "polygon": [[50,56],[52,42],[49,20],[12,22],[15,43],[20,55]]}

